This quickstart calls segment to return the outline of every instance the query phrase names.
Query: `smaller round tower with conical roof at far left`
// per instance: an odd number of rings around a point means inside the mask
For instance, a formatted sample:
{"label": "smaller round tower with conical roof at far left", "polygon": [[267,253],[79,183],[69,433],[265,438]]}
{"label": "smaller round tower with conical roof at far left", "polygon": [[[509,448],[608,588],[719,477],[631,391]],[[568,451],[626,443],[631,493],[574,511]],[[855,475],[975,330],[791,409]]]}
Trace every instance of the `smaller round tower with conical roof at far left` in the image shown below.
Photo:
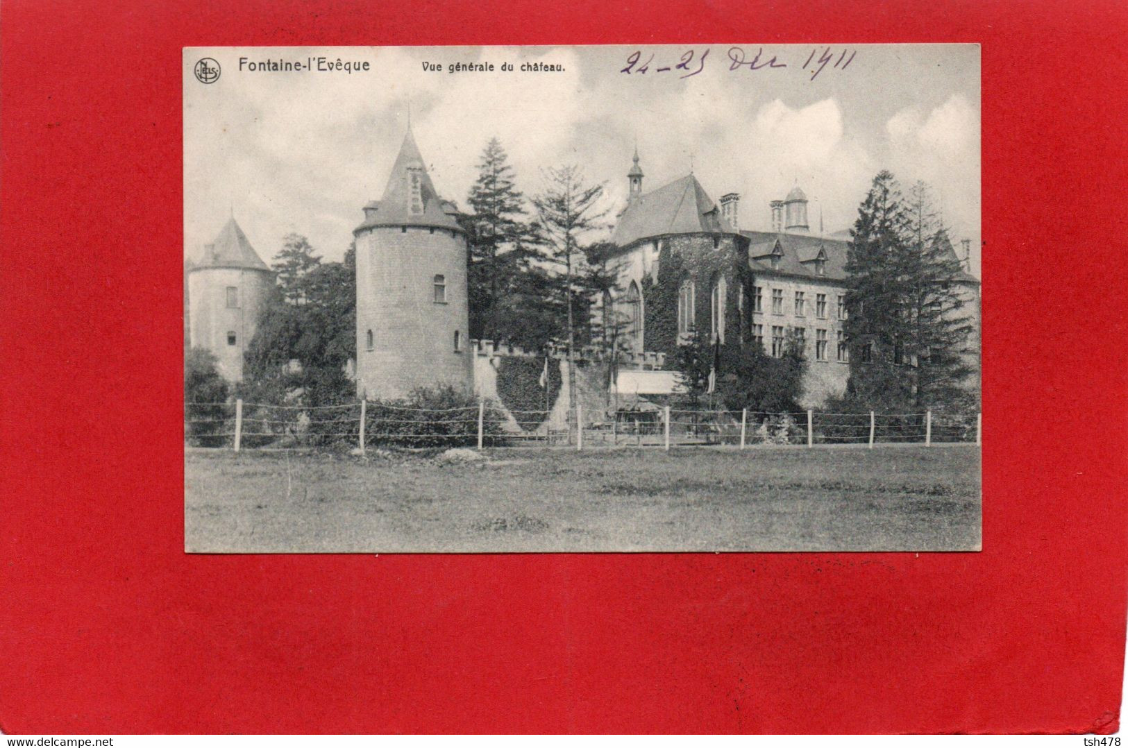
{"label": "smaller round tower with conical roof at far left", "polygon": [[228,381],[243,379],[243,354],[274,285],[266,266],[231,218],[188,269],[188,338],[211,351]]}

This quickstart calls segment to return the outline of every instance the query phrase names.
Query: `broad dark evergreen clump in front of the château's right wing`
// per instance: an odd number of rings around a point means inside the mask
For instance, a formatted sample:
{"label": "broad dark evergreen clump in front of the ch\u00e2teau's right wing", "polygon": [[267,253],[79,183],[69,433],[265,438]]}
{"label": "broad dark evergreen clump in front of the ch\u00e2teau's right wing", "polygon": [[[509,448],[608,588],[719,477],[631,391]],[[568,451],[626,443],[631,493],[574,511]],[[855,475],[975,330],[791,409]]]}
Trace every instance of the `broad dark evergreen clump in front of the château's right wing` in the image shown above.
{"label": "broad dark evergreen clump in front of the ch\u00e2teau's right wing", "polygon": [[902,196],[874,177],[852,230],[847,273],[847,393],[874,410],[943,408],[964,396],[970,329],[955,281],[962,270],[920,183]]}

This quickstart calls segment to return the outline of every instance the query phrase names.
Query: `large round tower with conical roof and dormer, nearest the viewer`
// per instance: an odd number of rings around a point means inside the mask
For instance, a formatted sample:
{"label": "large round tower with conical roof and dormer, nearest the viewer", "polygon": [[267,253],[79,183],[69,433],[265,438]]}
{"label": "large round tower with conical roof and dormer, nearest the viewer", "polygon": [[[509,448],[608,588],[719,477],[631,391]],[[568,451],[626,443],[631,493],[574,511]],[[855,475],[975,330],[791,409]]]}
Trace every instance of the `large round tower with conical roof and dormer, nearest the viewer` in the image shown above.
{"label": "large round tower with conical roof and dormer, nearest the viewer", "polygon": [[411,129],[356,237],[356,394],[473,389],[466,232],[435,193]]}

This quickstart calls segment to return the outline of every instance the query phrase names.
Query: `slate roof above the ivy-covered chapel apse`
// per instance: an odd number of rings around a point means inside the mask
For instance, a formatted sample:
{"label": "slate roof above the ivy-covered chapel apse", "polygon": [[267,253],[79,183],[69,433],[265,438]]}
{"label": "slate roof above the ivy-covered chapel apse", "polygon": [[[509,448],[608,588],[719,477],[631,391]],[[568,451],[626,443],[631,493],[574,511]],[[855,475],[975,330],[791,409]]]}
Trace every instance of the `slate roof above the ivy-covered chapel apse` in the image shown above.
{"label": "slate roof above the ivy-covered chapel apse", "polygon": [[611,241],[632,241],[667,234],[733,234],[697,177],[688,175],[640,195],[615,226]]}

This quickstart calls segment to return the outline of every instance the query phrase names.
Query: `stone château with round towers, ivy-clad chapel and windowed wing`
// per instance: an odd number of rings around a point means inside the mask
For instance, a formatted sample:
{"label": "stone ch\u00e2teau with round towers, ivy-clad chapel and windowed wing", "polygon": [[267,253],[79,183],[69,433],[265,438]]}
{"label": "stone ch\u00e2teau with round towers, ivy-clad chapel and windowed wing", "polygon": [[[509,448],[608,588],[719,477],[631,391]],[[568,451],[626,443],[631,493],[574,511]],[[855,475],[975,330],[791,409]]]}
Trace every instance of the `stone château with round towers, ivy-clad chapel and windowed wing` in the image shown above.
{"label": "stone ch\u00e2teau with round towers, ivy-clad chapel and windowed wing", "polygon": [[[611,235],[618,290],[601,300],[605,313],[622,320],[618,343],[625,347],[610,389],[672,394],[678,378],[664,370],[666,361],[677,346],[705,335],[722,344],[760,345],[773,357],[794,341],[809,361],[803,405],[817,407],[843,394],[849,373],[847,232],[812,232],[797,185],[769,203],[770,230],[754,231],[740,228],[737,193],[722,195],[717,205],[693,174],[650,192],[643,178],[636,150],[627,202]],[[358,396],[402,397],[446,382],[495,397],[497,359],[530,354],[468,340],[466,234],[455,204],[437,193],[409,127],[382,197],[363,213],[353,231]],[[954,257],[946,236],[940,240]],[[669,288],[662,296],[676,298],[676,309],[647,300],[663,267]],[[964,272],[955,283],[978,336],[979,281]],[[192,345],[215,353],[228,379],[241,377],[243,351],[272,284],[233,218],[187,272]],[[978,341],[969,350],[978,371]],[[581,357],[599,358],[594,351]],[[566,397],[562,391],[554,410]]]}

